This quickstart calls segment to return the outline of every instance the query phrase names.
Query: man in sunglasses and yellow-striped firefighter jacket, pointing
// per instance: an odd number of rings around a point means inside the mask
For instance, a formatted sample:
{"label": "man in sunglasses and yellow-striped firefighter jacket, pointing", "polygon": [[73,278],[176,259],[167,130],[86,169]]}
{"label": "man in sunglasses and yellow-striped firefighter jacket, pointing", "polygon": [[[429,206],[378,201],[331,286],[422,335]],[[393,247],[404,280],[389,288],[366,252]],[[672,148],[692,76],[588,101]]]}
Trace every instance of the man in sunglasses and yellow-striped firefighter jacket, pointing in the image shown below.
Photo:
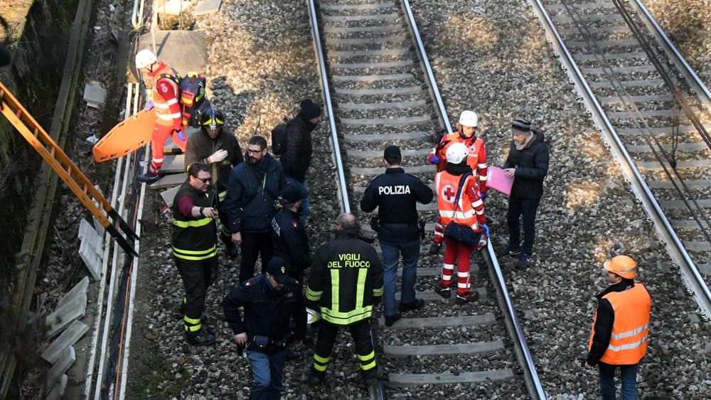
{"label": "man in sunglasses and yellow-striped firefighter jacket, pointing", "polygon": [[173,200],[173,258],[183,279],[183,323],[188,343],[212,345],[215,336],[203,328],[205,294],[218,271],[217,224],[210,193],[210,167],[193,163],[188,179]]}

